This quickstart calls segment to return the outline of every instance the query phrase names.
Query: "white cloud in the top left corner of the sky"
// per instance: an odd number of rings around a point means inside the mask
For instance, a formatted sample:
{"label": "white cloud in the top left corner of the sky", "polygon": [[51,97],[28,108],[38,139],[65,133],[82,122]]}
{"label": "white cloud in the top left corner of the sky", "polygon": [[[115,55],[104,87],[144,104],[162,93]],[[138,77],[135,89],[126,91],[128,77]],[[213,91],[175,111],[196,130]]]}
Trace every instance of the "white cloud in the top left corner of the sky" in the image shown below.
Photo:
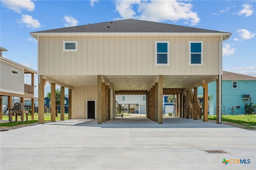
{"label": "white cloud in the top left corner of the sky", "polygon": [[21,14],[22,10],[31,12],[35,8],[35,4],[31,0],[1,0],[1,3],[6,8],[19,14]]}

